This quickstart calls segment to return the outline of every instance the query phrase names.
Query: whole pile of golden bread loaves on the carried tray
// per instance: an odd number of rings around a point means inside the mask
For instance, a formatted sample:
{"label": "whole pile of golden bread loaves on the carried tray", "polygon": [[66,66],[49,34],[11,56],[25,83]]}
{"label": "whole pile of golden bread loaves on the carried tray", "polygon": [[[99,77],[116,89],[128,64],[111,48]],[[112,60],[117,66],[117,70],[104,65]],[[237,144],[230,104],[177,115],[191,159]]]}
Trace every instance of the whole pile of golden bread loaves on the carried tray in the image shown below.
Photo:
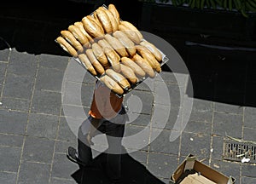
{"label": "whole pile of golden bread loaves on the carried tray", "polygon": [[161,72],[159,49],[131,22],[120,20],[113,4],[68,26],[55,41],[118,95]]}

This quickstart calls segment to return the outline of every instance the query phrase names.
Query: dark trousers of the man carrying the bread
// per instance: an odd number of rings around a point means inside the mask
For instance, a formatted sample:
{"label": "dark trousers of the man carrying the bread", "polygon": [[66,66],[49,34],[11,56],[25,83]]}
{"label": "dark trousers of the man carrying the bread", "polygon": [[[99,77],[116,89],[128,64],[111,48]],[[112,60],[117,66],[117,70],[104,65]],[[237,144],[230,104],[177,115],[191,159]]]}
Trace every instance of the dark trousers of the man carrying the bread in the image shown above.
{"label": "dark trousers of the man carrying the bread", "polygon": [[[86,138],[91,120],[91,117],[87,118],[79,127],[79,159],[85,164],[89,164],[90,161],[92,161],[90,143]],[[123,151],[121,141],[125,132],[126,120],[127,115],[123,108],[115,118],[110,120],[102,119],[101,124],[97,127],[98,131],[93,134],[93,136],[98,135],[99,133],[107,135],[108,150],[106,172],[108,177],[113,181],[119,181],[121,177],[121,154]]]}

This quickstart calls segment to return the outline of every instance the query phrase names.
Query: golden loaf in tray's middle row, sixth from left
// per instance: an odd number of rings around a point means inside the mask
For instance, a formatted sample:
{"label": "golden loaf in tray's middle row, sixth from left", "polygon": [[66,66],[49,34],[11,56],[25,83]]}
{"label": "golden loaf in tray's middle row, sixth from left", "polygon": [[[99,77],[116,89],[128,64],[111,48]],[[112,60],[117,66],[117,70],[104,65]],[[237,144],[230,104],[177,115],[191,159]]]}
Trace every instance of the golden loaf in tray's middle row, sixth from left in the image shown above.
{"label": "golden loaf in tray's middle row, sixth from left", "polygon": [[131,41],[129,37],[125,34],[125,32],[122,31],[116,31],[113,32],[113,37],[116,37],[119,39],[120,43],[122,43],[127,50],[128,54],[133,56],[136,54],[136,49],[134,47],[134,43]]}

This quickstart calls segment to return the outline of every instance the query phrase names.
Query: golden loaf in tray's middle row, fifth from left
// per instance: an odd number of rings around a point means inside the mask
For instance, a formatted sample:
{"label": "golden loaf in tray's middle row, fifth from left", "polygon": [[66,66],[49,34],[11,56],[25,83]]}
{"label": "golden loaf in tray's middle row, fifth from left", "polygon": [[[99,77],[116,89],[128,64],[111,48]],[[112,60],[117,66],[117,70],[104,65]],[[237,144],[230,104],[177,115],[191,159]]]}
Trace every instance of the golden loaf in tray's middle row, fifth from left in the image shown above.
{"label": "golden loaf in tray's middle row, fifth from left", "polygon": [[122,43],[120,43],[118,38],[113,37],[110,34],[106,34],[105,39],[119,55],[123,57],[128,56],[125,46]]}

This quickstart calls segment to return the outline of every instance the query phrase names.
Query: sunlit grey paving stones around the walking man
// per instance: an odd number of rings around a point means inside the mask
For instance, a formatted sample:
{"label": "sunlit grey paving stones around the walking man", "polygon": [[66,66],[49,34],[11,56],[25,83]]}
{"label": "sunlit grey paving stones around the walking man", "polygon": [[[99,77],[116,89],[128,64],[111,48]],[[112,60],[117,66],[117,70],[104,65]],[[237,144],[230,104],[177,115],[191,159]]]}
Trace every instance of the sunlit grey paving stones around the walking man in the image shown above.
{"label": "sunlit grey paving stones around the walking man", "polygon": [[[68,89],[74,89],[70,94],[61,90],[67,67],[75,71],[65,80]],[[164,83],[159,77],[166,83],[170,104],[165,104],[166,99],[161,96]],[[67,147],[77,146],[76,129],[84,118],[80,111],[88,112],[94,82],[95,78],[89,73],[84,76],[84,68],[67,56],[32,55],[16,49],[0,51],[1,184],[76,183],[72,174],[79,167],[66,158],[65,152]],[[184,78],[183,91],[187,82]],[[76,103],[79,96],[74,95],[79,88],[82,104]],[[256,141],[256,108],[193,98],[188,124],[177,139],[169,141],[175,122],[183,124],[183,115],[178,116],[178,111],[184,106],[179,99],[172,72],[162,72],[125,95],[129,115],[135,119],[126,124],[125,136],[146,132],[141,140],[145,146],[137,147],[139,143],[134,142],[127,147],[132,151],[131,157],[164,183],[169,183],[172,172],[189,153],[224,175],[233,176],[237,184],[256,183],[253,160],[225,160],[223,148],[227,135]],[[169,112],[164,111],[168,108]],[[161,119],[166,116],[165,124]],[[94,141],[95,147],[106,146]],[[95,152],[95,156],[99,153]]]}

